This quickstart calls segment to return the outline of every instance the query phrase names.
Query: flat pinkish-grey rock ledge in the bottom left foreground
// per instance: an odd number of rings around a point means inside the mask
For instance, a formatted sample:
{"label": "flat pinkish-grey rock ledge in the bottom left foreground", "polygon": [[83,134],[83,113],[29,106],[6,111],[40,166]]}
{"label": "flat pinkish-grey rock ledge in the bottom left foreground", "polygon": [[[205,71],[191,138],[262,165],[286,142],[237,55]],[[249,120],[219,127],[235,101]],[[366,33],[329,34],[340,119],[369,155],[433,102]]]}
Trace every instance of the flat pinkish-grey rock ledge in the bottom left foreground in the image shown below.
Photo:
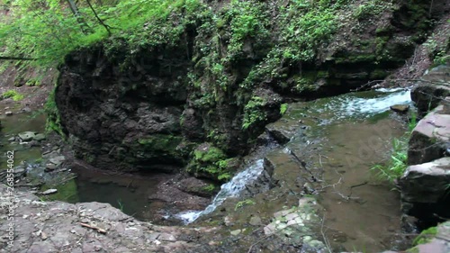
{"label": "flat pinkish-grey rock ledge in the bottom left foreground", "polygon": [[195,252],[193,239],[214,230],[136,221],[109,203],[42,202],[17,189],[11,198],[5,185],[0,192],[0,252]]}

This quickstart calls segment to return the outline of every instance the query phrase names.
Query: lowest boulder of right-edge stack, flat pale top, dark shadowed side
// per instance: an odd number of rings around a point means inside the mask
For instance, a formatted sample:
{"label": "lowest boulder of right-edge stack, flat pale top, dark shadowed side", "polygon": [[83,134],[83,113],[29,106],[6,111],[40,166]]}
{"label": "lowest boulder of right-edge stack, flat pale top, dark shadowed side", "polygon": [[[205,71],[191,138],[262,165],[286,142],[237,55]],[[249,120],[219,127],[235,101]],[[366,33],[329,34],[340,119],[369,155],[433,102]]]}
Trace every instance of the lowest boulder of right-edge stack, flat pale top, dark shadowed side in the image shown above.
{"label": "lowest boulder of right-edge stack, flat pale top, dark shadowed side", "polygon": [[450,158],[413,165],[399,180],[401,199],[409,203],[438,203],[450,182]]}

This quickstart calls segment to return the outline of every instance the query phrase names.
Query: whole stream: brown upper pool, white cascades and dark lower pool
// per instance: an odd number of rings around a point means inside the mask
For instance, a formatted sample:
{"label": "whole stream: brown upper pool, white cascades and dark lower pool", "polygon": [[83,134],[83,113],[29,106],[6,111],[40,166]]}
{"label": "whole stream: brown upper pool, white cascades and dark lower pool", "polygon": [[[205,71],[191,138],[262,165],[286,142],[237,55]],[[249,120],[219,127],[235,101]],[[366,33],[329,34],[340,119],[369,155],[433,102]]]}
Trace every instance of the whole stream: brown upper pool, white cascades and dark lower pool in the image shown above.
{"label": "whole stream: brown upper pool, white cascades and dark lower pool", "polygon": [[[149,196],[158,190],[157,185],[169,179],[165,174],[105,174],[76,167],[72,172],[78,176],[58,185],[58,194],[51,199],[111,203],[144,221],[163,217],[179,223],[196,219],[219,222],[227,215],[233,221],[229,230],[234,230],[247,227],[255,213],[261,221],[269,222],[274,212],[312,195],[321,206],[324,222],[320,229],[333,248],[364,252],[401,249],[402,242],[395,236],[401,233],[400,195],[370,171],[390,158],[392,140],[406,131],[404,118],[390,110],[393,104],[410,104],[410,92],[378,90],[290,104],[278,122],[267,126],[267,131],[277,131],[288,139],[287,143],[254,159],[229,184],[222,185],[204,209],[180,212],[166,202],[151,200]],[[2,153],[17,149],[16,162],[32,165],[33,160],[40,159],[39,147],[20,150],[20,144],[7,141],[21,131],[44,130],[43,115],[29,116],[22,113],[3,118],[0,138],[4,143]],[[39,162],[36,165],[44,166]],[[273,169],[270,174],[276,186],[254,194],[247,192],[245,197],[251,202],[238,206],[240,191],[254,185],[267,167]],[[243,246],[247,244],[243,242]]]}

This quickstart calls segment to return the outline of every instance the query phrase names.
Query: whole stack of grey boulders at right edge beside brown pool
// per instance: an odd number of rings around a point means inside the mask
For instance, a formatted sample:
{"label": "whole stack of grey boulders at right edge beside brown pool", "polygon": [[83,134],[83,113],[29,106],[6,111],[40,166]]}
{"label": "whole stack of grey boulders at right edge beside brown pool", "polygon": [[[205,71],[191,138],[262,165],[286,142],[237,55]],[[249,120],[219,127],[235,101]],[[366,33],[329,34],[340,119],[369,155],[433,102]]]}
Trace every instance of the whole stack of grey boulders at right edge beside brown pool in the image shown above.
{"label": "whole stack of grey boulders at right edge beside brown pool", "polygon": [[[411,93],[425,115],[410,135],[408,164],[399,180],[403,212],[433,224],[448,216],[450,182],[450,68],[432,68]],[[427,104],[427,106],[425,105]],[[436,108],[435,108],[436,107]]]}

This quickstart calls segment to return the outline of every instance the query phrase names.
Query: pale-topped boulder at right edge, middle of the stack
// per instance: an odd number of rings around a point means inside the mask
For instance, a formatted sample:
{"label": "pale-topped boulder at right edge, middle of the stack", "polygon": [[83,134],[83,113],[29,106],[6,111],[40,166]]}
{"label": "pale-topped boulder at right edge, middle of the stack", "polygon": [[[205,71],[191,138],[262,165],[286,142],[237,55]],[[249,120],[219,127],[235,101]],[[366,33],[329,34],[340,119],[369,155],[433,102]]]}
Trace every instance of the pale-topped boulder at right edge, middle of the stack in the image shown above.
{"label": "pale-topped boulder at right edge, middle of the stack", "polygon": [[[450,102],[450,99],[446,99]],[[440,104],[419,121],[410,136],[408,164],[416,165],[446,156],[450,147],[450,105]]]}

